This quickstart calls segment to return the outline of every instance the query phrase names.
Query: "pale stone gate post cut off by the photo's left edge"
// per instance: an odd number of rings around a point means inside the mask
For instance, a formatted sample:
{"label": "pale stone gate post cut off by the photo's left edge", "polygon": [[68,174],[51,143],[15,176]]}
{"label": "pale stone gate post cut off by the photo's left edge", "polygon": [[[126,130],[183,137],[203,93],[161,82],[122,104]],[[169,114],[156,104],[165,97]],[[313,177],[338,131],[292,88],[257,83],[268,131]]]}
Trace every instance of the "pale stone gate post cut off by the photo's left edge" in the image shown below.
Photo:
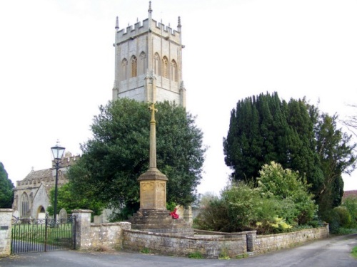
{"label": "pale stone gate post cut off by the photo's left edge", "polygon": [[0,209],[0,258],[11,254],[11,219],[14,209]]}

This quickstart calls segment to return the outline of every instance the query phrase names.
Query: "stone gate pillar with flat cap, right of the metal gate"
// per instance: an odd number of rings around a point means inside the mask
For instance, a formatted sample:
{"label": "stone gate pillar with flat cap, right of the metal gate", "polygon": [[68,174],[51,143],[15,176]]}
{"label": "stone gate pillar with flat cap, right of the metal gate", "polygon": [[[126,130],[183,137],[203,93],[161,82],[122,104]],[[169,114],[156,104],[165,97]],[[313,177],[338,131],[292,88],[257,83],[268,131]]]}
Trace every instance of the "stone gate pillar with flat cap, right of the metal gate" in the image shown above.
{"label": "stone gate pillar with flat cap, right of the metal gate", "polygon": [[91,211],[90,209],[74,209],[76,217],[76,249],[91,248]]}

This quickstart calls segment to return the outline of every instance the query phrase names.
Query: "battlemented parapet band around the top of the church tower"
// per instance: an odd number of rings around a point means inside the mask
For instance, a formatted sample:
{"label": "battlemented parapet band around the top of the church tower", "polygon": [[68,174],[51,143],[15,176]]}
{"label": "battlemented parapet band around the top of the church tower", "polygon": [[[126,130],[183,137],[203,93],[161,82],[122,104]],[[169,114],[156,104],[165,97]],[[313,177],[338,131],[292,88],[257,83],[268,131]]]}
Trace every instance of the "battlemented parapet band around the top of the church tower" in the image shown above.
{"label": "battlemented parapet band around the top of the church tower", "polygon": [[161,22],[157,22],[154,19],[151,21],[149,19],[145,19],[142,21],[136,22],[134,24],[134,28],[132,25],[127,26],[125,29],[116,32],[116,44],[127,41],[129,39],[134,39],[136,36],[139,36],[143,33],[148,33],[152,31],[159,36],[163,36],[166,39],[170,39],[176,43],[181,43],[181,31],[176,31],[170,26],[166,26]]}

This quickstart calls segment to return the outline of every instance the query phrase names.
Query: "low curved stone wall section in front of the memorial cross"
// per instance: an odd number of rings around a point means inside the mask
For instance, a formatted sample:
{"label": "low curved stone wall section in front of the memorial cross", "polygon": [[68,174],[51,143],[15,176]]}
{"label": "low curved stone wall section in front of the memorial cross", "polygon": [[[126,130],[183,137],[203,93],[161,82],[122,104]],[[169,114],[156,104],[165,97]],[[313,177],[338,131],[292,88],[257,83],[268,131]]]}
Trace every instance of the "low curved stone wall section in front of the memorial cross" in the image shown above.
{"label": "low curved stone wall section in front of the memorial cross", "polygon": [[188,256],[199,252],[204,258],[230,257],[245,254],[246,234],[214,234],[196,236],[170,236],[146,231],[124,230],[123,248],[131,251],[149,249],[151,253],[169,256]]}

